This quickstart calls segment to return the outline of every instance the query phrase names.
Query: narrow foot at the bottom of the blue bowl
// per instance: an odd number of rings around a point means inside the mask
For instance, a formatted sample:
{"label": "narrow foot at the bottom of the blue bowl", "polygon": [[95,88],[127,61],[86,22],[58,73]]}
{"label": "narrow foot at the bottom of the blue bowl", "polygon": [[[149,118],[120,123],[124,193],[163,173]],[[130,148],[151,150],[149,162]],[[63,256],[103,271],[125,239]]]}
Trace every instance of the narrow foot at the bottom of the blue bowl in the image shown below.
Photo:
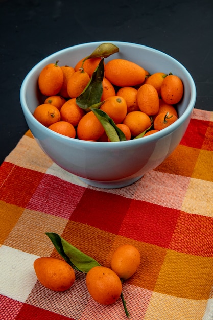
{"label": "narrow foot at the bottom of the blue bowl", "polygon": [[136,178],[130,178],[130,179],[121,179],[121,180],[114,180],[114,181],[98,181],[98,180],[89,180],[86,178],[81,178],[79,179],[85,184],[97,187],[97,188],[103,188],[103,189],[115,189],[115,188],[123,188],[127,187],[129,185],[134,184],[134,182],[138,181],[143,175],[136,177]]}

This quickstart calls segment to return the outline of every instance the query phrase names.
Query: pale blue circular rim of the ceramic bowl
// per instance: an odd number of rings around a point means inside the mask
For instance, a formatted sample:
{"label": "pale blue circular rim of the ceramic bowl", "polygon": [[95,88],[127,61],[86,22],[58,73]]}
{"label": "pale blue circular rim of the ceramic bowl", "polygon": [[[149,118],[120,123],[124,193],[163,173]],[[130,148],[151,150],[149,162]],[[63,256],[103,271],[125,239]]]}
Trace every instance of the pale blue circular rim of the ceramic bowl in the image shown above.
{"label": "pale blue circular rim of the ceramic bowl", "polygon": [[[49,56],[46,56],[45,58],[43,58],[41,61],[39,61],[38,63],[36,63],[31,70],[27,73],[27,75],[25,76],[25,78],[22,81],[21,87],[20,87],[20,102],[21,102],[21,108],[22,110],[28,115],[28,117],[31,119],[31,121],[33,122],[37,122],[38,127],[40,127],[40,129],[45,132],[45,134],[49,135],[49,136],[53,136],[55,138],[58,139],[63,139],[64,141],[70,141],[70,142],[75,142],[78,144],[88,144],[88,145],[105,145],[106,148],[111,148],[112,144],[108,144],[106,142],[101,142],[101,141],[85,141],[85,140],[80,140],[80,139],[76,139],[76,138],[69,138],[68,136],[62,135],[60,133],[57,133],[53,130],[48,129],[47,127],[45,127],[44,125],[42,125],[39,121],[37,121],[34,117],[33,114],[31,113],[31,111],[29,110],[28,106],[27,106],[27,102],[26,102],[26,87],[27,87],[27,83],[29,78],[31,77],[31,75],[35,72],[35,70],[37,70],[39,68],[39,66],[41,66],[42,64],[45,63],[45,61],[48,61],[51,59],[51,57],[54,57],[56,54],[60,54],[60,53],[65,53],[66,51],[70,51],[72,49],[77,49],[77,48],[81,48],[81,47],[89,47],[90,45],[100,45],[101,43],[106,43],[106,42],[110,42],[113,43],[115,45],[117,45],[117,47],[119,47],[119,45],[129,45],[131,47],[135,47],[135,48],[143,48],[145,50],[148,51],[152,51],[154,53],[157,54],[161,54],[164,57],[167,57],[168,59],[176,62],[176,64],[178,64],[178,66],[180,68],[182,68],[182,70],[184,71],[184,73],[187,75],[187,80],[190,83],[190,86],[192,88],[191,90],[191,98],[190,101],[188,103],[188,106],[186,108],[186,110],[182,113],[182,115],[170,126],[168,126],[167,128],[164,128],[163,130],[160,130],[159,132],[156,132],[155,134],[151,134],[148,136],[143,137],[144,142],[151,142],[154,140],[158,140],[163,138],[166,135],[171,134],[173,131],[177,130],[178,127],[183,123],[184,119],[187,118],[191,118],[194,106],[195,106],[195,102],[196,102],[196,86],[195,86],[195,82],[191,76],[191,74],[188,72],[188,70],[185,68],[185,66],[183,64],[181,64],[178,60],[176,60],[175,58],[173,58],[172,56],[168,55],[167,53],[164,53],[158,49],[154,49],[151,47],[148,47],[147,45],[143,45],[143,44],[139,44],[139,43],[132,43],[132,42],[126,42],[126,41],[94,41],[94,42],[85,42],[85,43],[80,43],[80,44],[75,44],[72,45],[71,47],[66,47],[64,49],[61,49],[59,51],[56,51],[52,54],[50,54]],[[126,145],[137,145],[140,144],[141,139],[131,139],[128,141],[119,141],[119,142],[113,142],[113,146],[116,146],[116,148],[118,146],[120,147],[124,147]]]}

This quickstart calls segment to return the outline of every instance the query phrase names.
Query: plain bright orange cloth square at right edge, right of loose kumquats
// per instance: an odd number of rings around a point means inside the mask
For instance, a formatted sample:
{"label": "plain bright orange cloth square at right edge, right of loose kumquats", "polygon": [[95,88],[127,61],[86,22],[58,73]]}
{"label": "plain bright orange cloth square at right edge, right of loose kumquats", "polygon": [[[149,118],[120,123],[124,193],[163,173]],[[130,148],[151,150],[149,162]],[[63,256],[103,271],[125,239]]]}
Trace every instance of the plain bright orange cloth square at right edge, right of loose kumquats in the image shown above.
{"label": "plain bright orange cloth square at right edge, right of loose kumquats", "polygon": [[213,284],[213,257],[167,251],[155,292],[187,299],[208,299]]}

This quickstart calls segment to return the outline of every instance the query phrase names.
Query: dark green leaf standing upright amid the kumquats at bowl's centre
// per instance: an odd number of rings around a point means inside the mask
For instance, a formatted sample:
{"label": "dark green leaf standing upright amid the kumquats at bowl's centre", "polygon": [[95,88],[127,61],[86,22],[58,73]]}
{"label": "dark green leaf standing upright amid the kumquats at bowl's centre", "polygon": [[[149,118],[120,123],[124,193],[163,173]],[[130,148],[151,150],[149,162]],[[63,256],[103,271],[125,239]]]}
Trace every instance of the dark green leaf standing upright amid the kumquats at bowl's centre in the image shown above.
{"label": "dark green leaf standing upright amid the kumquats at bowl's centre", "polygon": [[89,83],[83,92],[76,98],[77,105],[82,109],[88,109],[90,106],[101,101],[103,93],[102,81],[104,78],[104,59],[101,59],[96,70],[93,72]]}

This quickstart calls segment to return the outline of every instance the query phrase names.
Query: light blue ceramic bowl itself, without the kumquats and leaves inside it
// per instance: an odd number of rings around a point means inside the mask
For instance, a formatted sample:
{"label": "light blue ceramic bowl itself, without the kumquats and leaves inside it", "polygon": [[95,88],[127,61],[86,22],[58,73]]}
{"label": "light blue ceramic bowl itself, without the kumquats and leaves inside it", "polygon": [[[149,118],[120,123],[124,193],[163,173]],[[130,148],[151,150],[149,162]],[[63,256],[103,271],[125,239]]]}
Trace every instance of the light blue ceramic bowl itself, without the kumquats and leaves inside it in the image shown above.
{"label": "light blue ceramic bowl itself, without the kumquats and leaves inside it", "polygon": [[42,103],[38,92],[38,76],[48,63],[59,60],[60,65],[75,66],[102,42],[75,45],[58,51],[36,64],[23,80],[20,102],[27,124],[41,149],[61,168],[80,177],[87,184],[101,188],[128,186],[156,168],[180,143],[190,122],[196,101],[196,87],[186,68],[169,55],[144,45],[112,42],[120,52],[106,59],[131,60],[150,73],[176,74],[184,84],[184,96],[178,105],[179,118],[169,127],[141,139],[122,142],[91,142],[58,134],[34,117],[35,108]]}

